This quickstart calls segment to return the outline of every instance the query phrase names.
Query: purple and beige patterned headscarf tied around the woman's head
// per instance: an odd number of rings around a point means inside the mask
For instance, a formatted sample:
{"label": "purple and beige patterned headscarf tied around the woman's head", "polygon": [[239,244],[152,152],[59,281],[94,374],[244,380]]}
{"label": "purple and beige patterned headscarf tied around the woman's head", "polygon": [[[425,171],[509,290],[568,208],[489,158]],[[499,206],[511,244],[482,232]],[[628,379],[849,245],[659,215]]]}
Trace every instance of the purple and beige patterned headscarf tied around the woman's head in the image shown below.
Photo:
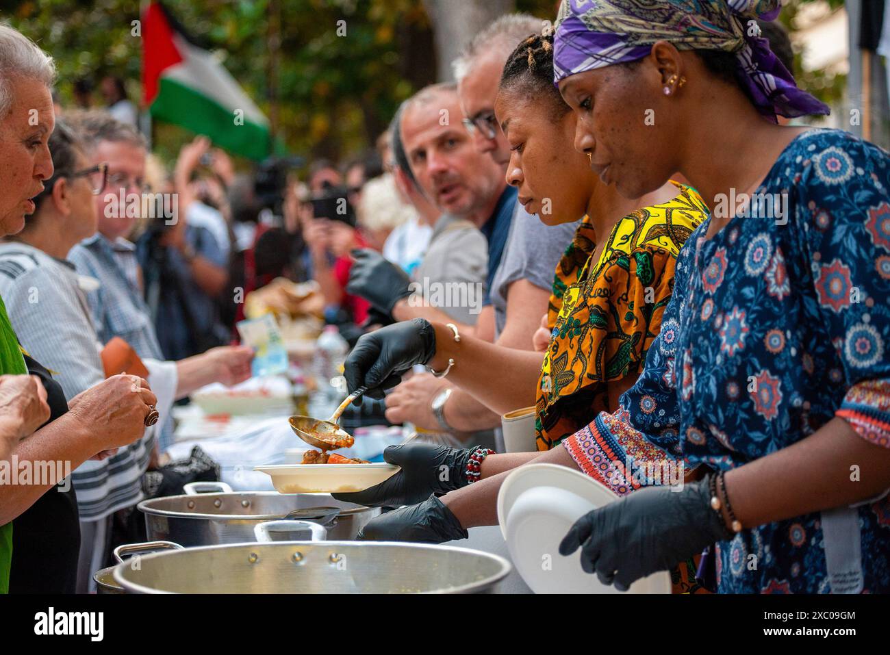
{"label": "purple and beige patterned headscarf tied around the woman's head", "polygon": [[562,0],[554,38],[554,82],[586,70],[643,59],[656,41],[677,50],[735,53],[736,77],[768,117],[828,114],[801,91],[760,36],[779,0]]}

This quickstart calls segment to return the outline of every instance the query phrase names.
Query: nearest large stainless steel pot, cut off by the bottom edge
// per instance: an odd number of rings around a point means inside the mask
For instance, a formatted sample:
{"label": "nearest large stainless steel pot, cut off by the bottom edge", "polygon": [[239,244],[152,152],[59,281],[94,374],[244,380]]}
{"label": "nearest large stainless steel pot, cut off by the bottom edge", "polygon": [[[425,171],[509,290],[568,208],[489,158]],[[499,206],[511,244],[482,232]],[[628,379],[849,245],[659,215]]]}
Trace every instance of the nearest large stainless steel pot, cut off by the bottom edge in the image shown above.
{"label": "nearest large stainless steel pot, cut off by the bottom edge", "polygon": [[142,555],[114,579],[135,594],[467,594],[495,591],[510,568],[454,546],[287,541]]}

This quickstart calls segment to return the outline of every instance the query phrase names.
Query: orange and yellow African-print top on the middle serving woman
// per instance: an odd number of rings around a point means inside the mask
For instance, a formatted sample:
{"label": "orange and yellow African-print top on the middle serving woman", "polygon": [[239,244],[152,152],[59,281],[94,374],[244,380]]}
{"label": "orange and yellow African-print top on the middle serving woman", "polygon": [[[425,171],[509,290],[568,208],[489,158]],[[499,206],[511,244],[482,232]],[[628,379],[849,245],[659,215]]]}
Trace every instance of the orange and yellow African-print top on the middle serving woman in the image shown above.
{"label": "orange and yellow African-print top on the middle serving woman", "polygon": [[[557,267],[551,304],[559,312],[538,378],[538,450],[611,411],[609,384],[642,370],[674,291],[676,255],[708,217],[699,194],[674,183],[680,191],[675,198],[615,224],[595,263],[594,233],[585,218]],[[573,262],[585,252],[587,262],[575,275]],[[561,284],[564,289],[557,289]],[[555,297],[560,290],[561,299]]]}

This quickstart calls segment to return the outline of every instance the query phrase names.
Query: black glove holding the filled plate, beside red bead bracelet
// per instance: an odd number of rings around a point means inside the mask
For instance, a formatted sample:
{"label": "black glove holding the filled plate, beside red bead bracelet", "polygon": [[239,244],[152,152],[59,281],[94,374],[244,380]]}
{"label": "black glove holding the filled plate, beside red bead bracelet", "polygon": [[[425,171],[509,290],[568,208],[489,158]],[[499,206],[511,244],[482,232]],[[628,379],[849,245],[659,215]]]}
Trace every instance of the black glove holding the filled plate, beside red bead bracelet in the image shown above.
{"label": "black glove holding the filled plate, beside red bead bracelet", "polygon": [[475,449],[448,448],[417,441],[389,446],[384,450],[384,460],[401,466],[401,471],[370,489],[333,496],[367,507],[415,505],[430,494],[446,494],[465,487],[468,484],[466,463]]}

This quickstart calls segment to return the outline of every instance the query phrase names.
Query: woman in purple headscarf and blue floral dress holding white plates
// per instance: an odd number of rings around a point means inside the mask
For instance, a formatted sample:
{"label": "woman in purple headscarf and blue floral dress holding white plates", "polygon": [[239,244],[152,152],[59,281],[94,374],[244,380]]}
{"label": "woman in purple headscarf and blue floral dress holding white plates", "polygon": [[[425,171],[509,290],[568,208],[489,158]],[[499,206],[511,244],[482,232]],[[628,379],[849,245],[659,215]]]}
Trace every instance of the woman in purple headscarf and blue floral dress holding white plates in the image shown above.
{"label": "woman in purple headscarf and blue floral dress holding white plates", "polygon": [[[643,375],[564,442],[626,497],[578,520],[561,553],[580,548],[619,588],[715,545],[724,593],[890,592],[890,158],[775,125],[828,112],[758,37],[778,8],[560,10],[555,82],[576,148],[627,197],[679,172],[712,208]],[[651,474],[681,464],[704,478]]]}

